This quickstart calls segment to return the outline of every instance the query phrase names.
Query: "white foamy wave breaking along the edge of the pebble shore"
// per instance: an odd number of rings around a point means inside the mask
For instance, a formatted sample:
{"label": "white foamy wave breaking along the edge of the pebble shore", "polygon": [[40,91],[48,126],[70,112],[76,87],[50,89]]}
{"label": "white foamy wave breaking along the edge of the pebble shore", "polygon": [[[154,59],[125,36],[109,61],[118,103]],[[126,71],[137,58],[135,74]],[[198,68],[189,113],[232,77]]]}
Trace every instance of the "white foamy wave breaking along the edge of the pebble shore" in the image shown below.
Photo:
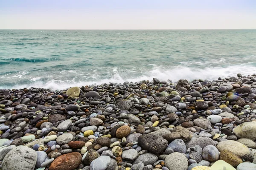
{"label": "white foamy wave breaking along the edge of the pebble shore", "polygon": [[[137,74],[137,71],[127,70],[128,73],[124,74],[123,71],[115,68],[111,72],[99,74],[97,71],[94,74],[76,73],[76,71],[68,71],[68,74],[74,74],[75,76],[65,77],[65,71],[59,77],[54,79],[54,74],[49,77],[31,78],[25,83],[20,82],[19,84],[12,85],[0,85],[0,89],[3,88],[30,88],[40,87],[52,90],[63,90],[73,86],[84,86],[84,85],[101,85],[103,83],[123,83],[123,82],[140,82],[142,80],[152,80],[158,78],[160,81],[166,81],[171,79],[173,82],[177,82],[179,79],[187,79],[192,81],[193,79],[207,79],[214,80],[218,77],[225,78],[236,76],[241,73],[244,76],[252,75],[256,73],[256,63],[249,62],[241,65],[231,65],[226,68],[222,67],[208,67],[208,68],[191,68],[179,65],[175,68],[166,68],[162,66],[154,66],[152,70],[141,71],[142,74]],[[20,75],[19,75],[20,76]]]}

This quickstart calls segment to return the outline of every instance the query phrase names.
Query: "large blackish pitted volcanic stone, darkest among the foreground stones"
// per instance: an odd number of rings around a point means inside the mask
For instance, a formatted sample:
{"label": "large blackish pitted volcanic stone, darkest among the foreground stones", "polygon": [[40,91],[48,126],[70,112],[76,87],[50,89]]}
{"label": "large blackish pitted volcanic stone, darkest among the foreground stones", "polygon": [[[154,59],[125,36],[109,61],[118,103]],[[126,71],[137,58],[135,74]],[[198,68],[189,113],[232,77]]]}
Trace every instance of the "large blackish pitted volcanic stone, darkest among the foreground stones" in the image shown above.
{"label": "large blackish pitted volcanic stone, darkest among the foreground stones", "polygon": [[138,144],[146,150],[151,151],[152,153],[158,154],[163,152],[168,146],[166,139],[163,139],[157,135],[141,135],[138,138]]}

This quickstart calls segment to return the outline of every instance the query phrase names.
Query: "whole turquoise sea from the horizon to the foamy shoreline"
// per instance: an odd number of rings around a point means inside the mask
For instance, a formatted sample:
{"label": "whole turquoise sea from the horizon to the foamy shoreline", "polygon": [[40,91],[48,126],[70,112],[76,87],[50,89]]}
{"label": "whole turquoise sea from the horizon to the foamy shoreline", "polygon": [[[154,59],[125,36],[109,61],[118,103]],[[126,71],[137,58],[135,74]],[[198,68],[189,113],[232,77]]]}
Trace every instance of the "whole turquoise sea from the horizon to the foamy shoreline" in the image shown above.
{"label": "whole turquoise sea from the horizon to the foamy shoreline", "polygon": [[256,73],[256,30],[0,30],[0,89]]}

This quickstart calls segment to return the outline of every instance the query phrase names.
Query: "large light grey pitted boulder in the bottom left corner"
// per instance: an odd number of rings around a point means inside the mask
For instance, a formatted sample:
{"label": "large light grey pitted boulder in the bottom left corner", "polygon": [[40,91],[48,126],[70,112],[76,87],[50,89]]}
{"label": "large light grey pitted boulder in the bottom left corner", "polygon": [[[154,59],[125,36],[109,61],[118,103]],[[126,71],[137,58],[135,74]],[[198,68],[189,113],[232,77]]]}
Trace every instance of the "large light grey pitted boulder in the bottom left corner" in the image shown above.
{"label": "large light grey pitted boulder in the bottom left corner", "polygon": [[17,146],[4,157],[2,170],[34,170],[36,161],[35,150],[26,146]]}

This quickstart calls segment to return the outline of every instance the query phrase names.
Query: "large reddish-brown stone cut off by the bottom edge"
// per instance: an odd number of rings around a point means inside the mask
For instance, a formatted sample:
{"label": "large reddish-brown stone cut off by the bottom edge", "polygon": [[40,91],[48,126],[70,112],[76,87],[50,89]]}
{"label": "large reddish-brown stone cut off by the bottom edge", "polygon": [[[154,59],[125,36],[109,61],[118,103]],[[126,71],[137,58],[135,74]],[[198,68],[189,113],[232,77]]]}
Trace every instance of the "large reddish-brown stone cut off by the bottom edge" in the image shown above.
{"label": "large reddish-brown stone cut off by the bottom edge", "polygon": [[56,158],[49,170],[74,170],[81,163],[82,156],[78,152],[67,153]]}

